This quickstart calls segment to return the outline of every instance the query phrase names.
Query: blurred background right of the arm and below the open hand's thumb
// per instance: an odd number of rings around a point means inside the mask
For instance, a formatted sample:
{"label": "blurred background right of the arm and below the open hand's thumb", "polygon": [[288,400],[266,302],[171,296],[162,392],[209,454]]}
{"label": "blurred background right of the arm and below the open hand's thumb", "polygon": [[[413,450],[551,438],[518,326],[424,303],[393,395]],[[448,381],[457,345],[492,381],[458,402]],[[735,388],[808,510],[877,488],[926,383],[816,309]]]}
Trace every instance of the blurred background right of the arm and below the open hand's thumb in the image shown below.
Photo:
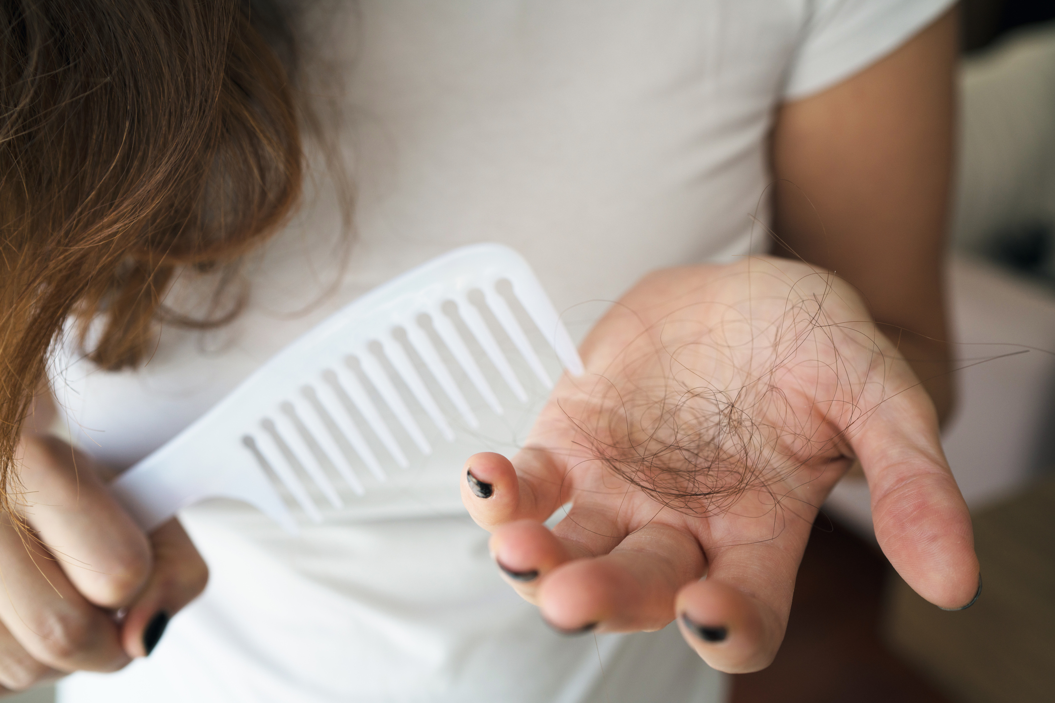
{"label": "blurred background right of the arm and below the open hand's thumb", "polygon": [[963,370],[944,444],[984,592],[962,612],[913,593],[875,542],[867,486],[847,479],[776,661],[734,677],[733,703],[1055,700],[1055,0],[965,0],[961,18],[950,299]]}

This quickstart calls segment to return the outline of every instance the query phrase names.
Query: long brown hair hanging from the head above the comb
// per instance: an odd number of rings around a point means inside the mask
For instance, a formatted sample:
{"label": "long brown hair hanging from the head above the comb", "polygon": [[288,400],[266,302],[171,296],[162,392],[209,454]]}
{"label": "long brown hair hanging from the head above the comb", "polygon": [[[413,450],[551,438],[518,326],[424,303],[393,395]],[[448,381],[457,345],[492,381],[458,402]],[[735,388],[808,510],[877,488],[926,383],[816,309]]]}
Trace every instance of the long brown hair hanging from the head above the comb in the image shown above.
{"label": "long brown hair hanging from the head above the comb", "polygon": [[274,9],[0,0],[0,508],[68,320],[82,339],[93,324],[100,367],[139,363],[174,272],[236,259],[296,201],[295,52]]}

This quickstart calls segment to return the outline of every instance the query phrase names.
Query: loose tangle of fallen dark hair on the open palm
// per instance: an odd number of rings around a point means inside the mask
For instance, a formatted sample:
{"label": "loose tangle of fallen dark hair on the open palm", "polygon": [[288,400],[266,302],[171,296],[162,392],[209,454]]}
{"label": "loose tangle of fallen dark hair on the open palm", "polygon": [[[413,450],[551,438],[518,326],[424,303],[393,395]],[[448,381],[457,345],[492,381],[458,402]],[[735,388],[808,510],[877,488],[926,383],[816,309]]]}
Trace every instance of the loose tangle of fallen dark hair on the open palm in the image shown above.
{"label": "loose tangle of fallen dark hair on the open palm", "polygon": [[[807,274],[786,297],[754,299],[764,317],[749,301],[696,304],[646,326],[588,385],[589,401],[565,410],[578,455],[694,516],[727,512],[748,492],[776,506],[780,484],[806,480],[804,466],[848,466],[849,435],[904,389],[890,386],[876,324],[832,314],[833,280]],[[705,307],[722,313],[697,316]]]}

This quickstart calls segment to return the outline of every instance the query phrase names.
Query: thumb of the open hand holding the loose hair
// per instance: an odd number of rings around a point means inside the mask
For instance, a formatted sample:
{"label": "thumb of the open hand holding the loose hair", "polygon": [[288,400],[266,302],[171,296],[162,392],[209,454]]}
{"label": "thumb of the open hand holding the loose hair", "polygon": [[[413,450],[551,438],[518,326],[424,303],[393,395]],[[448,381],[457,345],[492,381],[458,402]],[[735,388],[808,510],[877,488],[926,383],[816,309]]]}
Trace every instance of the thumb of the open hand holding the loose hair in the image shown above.
{"label": "thumb of the open hand holding the loose hair", "polygon": [[935,605],[971,603],[980,587],[971,515],[924,391],[916,387],[882,403],[850,442],[868,477],[876,538],[890,564]]}

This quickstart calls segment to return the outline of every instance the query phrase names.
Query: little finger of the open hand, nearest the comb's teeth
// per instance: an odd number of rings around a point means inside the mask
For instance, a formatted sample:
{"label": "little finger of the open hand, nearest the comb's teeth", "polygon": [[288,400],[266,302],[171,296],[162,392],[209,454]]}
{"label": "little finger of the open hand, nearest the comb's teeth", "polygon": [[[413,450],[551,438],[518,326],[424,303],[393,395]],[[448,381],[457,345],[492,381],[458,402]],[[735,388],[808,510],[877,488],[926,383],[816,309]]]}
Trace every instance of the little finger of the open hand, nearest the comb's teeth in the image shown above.
{"label": "little finger of the open hand, nearest the comb's teeth", "polygon": [[474,454],[461,484],[462,503],[488,531],[517,520],[544,521],[560,507],[561,489],[553,455],[532,448],[519,451],[513,462],[494,452]]}

